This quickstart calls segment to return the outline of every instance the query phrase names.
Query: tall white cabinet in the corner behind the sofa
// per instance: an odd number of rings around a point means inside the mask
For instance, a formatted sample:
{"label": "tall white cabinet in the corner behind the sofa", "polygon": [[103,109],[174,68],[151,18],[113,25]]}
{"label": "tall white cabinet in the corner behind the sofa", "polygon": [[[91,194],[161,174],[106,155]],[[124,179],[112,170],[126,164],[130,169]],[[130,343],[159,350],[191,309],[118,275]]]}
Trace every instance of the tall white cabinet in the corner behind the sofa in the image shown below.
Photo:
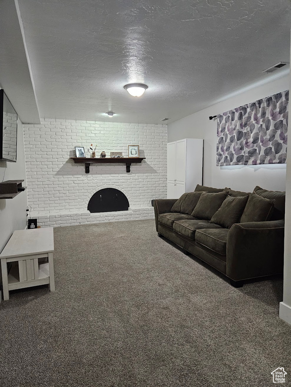
{"label": "tall white cabinet in the corner behind the sofa", "polygon": [[183,139],[167,146],[167,198],[177,199],[202,184],[203,140]]}

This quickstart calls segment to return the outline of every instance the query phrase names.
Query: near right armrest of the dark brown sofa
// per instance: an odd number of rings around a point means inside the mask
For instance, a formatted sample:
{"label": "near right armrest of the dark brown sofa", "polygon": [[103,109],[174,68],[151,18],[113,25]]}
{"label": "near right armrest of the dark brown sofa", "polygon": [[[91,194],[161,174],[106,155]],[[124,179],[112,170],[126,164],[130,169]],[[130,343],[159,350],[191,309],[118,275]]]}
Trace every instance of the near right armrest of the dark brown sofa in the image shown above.
{"label": "near right armrest of the dark brown sofa", "polygon": [[283,272],[284,221],[236,223],[226,241],[226,275],[234,281]]}

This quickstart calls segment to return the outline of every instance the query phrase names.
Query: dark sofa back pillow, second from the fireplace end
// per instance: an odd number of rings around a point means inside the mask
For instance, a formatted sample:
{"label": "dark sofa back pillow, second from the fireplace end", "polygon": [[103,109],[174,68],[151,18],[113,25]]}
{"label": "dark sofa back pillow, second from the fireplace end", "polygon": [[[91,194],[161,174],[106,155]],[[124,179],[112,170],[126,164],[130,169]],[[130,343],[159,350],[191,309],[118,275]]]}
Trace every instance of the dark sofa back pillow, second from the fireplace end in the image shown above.
{"label": "dark sofa back pillow, second from the fireplace end", "polygon": [[198,219],[210,220],[226,197],[227,191],[217,193],[202,192],[191,215]]}

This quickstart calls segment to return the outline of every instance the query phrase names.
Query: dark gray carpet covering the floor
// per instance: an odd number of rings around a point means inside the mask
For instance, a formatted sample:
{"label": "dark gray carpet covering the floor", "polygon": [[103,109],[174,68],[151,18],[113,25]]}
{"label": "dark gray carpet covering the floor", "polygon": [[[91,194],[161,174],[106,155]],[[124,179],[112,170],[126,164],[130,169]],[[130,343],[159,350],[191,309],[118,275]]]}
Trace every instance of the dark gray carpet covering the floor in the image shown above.
{"label": "dark gray carpet covering the floor", "polygon": [[282,280],[231,287],[153,220],[54,229],[55,292],[2,301],[1,387],[291,385]]}

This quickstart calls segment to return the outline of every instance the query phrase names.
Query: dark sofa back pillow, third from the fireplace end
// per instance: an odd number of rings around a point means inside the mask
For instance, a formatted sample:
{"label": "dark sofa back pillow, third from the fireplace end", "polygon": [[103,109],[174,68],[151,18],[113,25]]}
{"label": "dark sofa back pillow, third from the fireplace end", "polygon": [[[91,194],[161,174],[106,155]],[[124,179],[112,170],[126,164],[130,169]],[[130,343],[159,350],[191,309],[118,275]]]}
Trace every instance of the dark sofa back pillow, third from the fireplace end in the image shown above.
{"label": "dark sofa back pillow, third from the fireplace end", "polygon": [[220,208],[210,219],[210,223],[216,223],[224,228],[230,228],[234,223],[239,223],[248,201],[248,196],[228,196]]}

